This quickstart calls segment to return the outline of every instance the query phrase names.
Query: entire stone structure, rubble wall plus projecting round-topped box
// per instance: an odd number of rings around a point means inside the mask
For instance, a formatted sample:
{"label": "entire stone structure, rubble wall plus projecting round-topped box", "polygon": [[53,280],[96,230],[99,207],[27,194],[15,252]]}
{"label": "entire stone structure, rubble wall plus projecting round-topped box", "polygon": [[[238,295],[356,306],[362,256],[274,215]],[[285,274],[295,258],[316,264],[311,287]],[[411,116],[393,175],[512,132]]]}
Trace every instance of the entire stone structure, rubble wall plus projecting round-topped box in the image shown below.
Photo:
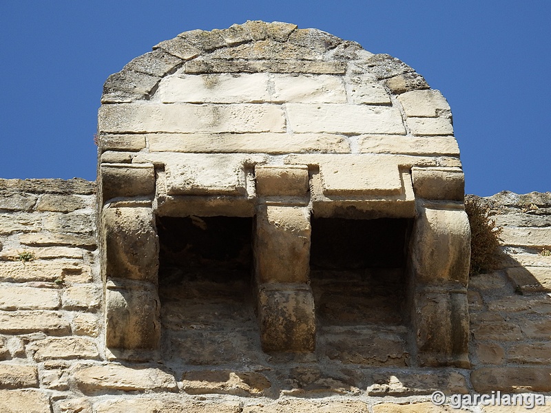
{"label": "entire stone structure, rubble wall plus projecting round-topped box", "polygon": [[0,411],[549,396],[551,195],[484,201],[502,266],[469,280],[450,107],[411,67],[247,21],[159,43],[101,103],[97,189],[0,180]]}

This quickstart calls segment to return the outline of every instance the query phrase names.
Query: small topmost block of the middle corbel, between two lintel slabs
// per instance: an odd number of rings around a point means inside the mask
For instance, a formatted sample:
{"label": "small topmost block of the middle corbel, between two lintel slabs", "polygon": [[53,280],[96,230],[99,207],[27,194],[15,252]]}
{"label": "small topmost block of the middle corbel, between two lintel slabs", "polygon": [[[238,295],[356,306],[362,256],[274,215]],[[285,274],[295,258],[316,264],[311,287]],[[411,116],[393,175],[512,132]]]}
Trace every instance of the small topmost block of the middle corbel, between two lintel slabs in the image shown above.
{"label": "small topmost block of the middle corbel, between two lintel slabs", "polygon": [[259,166],[254,169],[259,195],[305,196],[309,189],[306,165]]}

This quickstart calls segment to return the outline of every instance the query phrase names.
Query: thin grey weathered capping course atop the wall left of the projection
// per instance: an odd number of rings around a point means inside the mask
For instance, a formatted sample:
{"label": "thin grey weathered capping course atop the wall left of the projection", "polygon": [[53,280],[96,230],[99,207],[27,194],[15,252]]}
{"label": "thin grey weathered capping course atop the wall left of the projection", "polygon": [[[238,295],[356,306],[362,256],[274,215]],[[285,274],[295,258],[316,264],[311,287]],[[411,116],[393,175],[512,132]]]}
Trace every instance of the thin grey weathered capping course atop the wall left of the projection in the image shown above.
{"label": "thin grey weathered capping course atop the wall left of the projection", "polygon": [[30,193],[67,193],[70,195],[92,195],[96,192],[96,182],[73,179],[1,179],[0,191]]}

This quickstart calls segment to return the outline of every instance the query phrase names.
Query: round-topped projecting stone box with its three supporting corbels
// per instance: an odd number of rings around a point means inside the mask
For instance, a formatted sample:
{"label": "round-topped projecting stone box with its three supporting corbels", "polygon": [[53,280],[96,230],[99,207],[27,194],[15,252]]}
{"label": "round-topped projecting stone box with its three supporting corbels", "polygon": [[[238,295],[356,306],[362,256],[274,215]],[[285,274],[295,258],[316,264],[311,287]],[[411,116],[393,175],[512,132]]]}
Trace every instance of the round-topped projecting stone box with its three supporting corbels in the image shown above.
{"label": "round-topped projecting stone box with its three supporting corbels", "polygon": [[408,362],[468,366],[464,173],[446,99],[411,67],[320,30],[247,21],[158,43],[107,79],[101,103],[111,357],[159,350],[160,217],[253,220],[267,352],[315,350],[312,220],[383,219],[406,222]]}

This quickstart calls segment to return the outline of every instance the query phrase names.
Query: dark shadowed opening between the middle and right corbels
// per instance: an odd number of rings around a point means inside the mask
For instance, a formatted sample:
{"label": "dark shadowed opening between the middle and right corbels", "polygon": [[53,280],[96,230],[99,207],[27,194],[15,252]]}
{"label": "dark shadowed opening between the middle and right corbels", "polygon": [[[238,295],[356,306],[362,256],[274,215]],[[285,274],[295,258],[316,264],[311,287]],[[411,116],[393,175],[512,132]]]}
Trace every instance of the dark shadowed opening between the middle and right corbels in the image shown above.
{"label": "dark shadowed opening between the middle and right corbels", "polygon": [[406,264],[412,223],[395,218],[311,220],[310,277],[318,345],[329,358],[406,365]]}

